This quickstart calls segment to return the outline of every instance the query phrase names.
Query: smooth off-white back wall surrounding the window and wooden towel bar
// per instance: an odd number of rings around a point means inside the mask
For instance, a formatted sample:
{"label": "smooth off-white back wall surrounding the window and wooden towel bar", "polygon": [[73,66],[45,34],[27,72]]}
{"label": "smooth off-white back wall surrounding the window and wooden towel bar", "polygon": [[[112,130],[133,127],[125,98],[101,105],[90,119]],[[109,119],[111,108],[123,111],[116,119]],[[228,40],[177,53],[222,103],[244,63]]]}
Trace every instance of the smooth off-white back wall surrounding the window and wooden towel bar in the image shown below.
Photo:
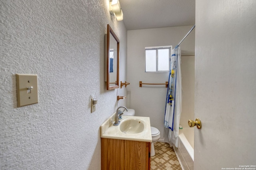
{"label": "smooth off-white back wall surrounding the window and wooden towel bar", "polygon": [[[128,31],[127,41],[127,105],[135,109],[137,116],[150,117],[151,126],[160,131],[163,139],[164,111],[167,88],[164,85],[142,83],[165,83],[169,73],[145,72],[145,47],[172,45],[174,48],[190,30],[190,26],[166,27]],[[194,55],[194,30],[180,45],[182,55]]]}

